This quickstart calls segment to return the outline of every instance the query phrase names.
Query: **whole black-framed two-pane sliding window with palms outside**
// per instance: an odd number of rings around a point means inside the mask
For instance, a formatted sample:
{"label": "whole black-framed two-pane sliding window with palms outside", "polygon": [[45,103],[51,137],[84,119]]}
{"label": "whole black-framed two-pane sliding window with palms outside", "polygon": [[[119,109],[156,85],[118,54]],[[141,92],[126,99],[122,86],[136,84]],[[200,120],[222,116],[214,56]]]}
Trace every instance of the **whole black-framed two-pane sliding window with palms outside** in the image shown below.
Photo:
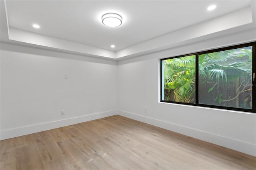
{"label": "whole black-framed two-pane sliding window with palms outside", "polygon": [[256,113],[255,45],[161,59],[161,101]]}

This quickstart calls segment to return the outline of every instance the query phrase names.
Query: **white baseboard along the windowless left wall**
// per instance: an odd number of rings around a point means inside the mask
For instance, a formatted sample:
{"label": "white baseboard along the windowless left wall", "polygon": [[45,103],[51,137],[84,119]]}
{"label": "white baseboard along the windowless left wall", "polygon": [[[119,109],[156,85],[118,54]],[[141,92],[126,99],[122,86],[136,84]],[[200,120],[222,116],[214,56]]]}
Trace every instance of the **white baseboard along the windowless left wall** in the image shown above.
{"label": "white baseboard along the windowless left wall", "polygon": [[8,138],[14,138],[17,136],[23,136],[26,134],[32,134],[32,133],[36,133],[36,132],[42,132],[44,130],[65,127],[68,125],[74,125],[74,124],[82,123],[82,122],[86,122],[86,121],[92,121],[95,119],[109,117],[109,116],[113,116],[116,114],[117,114],[116,110],[113,110],[113,111],[107,111],[107,112],[103,112],[103,113],[94,113],[94,114],[84,115],[84,116],[80,116],[80,117],[72,117],[69,119],[62,119],[62,120],[58,120],[58,121],[40,123],[40,124],[36,124],[36,125],[29,125],[26,127],[1,130],[1,140],[8,139]]}

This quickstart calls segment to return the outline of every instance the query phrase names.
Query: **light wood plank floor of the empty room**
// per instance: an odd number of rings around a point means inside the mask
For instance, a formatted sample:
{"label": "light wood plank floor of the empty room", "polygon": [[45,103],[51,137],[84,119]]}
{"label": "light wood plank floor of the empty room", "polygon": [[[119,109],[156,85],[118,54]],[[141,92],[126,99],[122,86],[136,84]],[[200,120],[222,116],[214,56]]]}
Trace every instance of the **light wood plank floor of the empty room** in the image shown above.
{"label": "light wood plank floor of the empty room", "polygon": [[255,170],[256,157],[122,116],[1,141],[1,170]]}

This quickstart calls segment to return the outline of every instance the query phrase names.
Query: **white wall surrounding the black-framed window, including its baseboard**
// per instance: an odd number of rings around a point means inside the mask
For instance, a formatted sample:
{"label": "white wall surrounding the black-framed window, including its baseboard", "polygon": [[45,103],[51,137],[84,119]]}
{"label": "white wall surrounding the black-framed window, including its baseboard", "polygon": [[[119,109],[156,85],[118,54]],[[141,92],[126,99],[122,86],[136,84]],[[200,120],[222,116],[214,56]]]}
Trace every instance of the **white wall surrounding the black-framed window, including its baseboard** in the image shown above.
{"label": "white wall surrounding the black-framed window, including its baseboard", "polygon": [[246,30],[118,61],[118,114],[256,156],[255,114],[159,102],[160,58],[252,40]]}

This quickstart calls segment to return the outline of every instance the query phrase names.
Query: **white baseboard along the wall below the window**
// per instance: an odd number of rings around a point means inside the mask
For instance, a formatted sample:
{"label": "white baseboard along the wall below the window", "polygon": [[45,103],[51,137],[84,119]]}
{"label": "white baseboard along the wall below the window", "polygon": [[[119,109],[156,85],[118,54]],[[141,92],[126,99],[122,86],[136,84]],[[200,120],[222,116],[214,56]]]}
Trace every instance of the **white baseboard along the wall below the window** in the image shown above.
{"label": "white baseboard along the wall below the window", "polygon": [[128,118],[134,119],[136,121],[141,121],[143,123],[148,123],[148,124],[154,125],[156,127],[168,129],[173,132],[191,136],[193,138],[204,140],[206,142],[217,144],[219,146],[230,148],[232,150],[237,150],[239,152],[243,152],[243,153],[246,153],[246,154],[249,154],[252,156],[256,156],[256,152],[255,152],[256,145],[255,144],[246,143],[246,142],[235,140],[232,138],[219,136],[219,135],[205,132],[202,130],[193,129],[193,128],[185,127],[185,126],[181,126],[181,125],[176,125],[176,124],[169,123],[166,121],[154,119],[151,117],[145,117],[142,115],[137,115],[135,113],[129,113],[126,111],[118,110],[118,115],[128,117]]}

